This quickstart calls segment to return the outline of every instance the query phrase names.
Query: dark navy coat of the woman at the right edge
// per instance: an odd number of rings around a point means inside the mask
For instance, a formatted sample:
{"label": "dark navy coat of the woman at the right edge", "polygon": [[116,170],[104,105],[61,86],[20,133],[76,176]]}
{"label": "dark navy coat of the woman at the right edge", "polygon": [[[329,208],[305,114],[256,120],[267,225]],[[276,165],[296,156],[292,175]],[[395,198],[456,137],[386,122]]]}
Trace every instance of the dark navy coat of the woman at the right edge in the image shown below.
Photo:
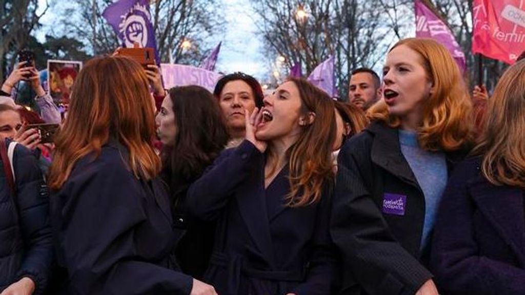
{"label": "dark navy coat of the woman at the right edge", "polygon": [[495,186],[480,158],[458,165],[434,232],[432,270],[443,294],[525,294],[523,188]]}

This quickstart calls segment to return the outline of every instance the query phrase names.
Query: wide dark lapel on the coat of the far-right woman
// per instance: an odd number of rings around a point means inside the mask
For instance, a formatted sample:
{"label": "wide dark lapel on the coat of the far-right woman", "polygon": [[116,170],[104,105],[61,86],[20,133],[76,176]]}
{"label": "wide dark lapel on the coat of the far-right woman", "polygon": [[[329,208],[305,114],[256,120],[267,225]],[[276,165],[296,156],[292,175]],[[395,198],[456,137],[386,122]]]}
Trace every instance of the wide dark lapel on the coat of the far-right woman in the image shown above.
{"label": "wide dark lapel on the coat of the far-right woman", "polygon": [[507,241],[525,266],[525,216],[521,189],[495,186],[478,176],[468,183],[468,189],[479,210]]}

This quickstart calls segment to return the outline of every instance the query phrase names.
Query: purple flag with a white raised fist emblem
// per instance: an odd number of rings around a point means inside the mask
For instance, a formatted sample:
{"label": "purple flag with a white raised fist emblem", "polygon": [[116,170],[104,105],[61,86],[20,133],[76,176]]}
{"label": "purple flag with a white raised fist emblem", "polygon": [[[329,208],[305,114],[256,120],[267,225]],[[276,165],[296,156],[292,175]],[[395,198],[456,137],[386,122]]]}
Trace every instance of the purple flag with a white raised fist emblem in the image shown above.
{"label": "purple flag with a white raised fist emblem", "polygon": [[120,0],[109,5],[102,16],[117,33],[122,47],[132,48],[134,42],[137,42],[139,47],[151,47],[155,49],[156,63],[160,64],[149,0]]}

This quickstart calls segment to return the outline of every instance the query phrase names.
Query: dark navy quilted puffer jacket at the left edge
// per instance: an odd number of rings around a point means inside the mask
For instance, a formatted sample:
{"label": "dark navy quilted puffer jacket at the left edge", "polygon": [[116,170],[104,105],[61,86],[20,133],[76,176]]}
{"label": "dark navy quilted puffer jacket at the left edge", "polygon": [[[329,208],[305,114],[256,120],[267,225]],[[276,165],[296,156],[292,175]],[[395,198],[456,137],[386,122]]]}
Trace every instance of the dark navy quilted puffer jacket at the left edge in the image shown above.
{"label": "dark navy quilted puffer jacket at the left edge", "polygon": [[35,282],[35,294],[41,294],[53,262],[47,186],[36,158],[20,144],[13,154],[15,197],[3,165],[0,159],[0,292],[29,277]]}

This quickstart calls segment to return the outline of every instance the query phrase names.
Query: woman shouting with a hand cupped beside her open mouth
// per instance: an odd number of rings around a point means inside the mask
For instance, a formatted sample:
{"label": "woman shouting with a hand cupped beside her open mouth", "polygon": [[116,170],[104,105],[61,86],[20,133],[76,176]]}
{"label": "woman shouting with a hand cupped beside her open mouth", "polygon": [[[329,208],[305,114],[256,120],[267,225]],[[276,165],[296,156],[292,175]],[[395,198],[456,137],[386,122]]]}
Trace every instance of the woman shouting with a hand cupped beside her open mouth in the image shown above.
{"label": "woman shouting with a hand cupped beside her open mouth", "polygon": [[290,78],[245,115],[246,139],[188,191],[190,211],[217,220],[204,279],[219,294],[331,294],[333,101]]}

